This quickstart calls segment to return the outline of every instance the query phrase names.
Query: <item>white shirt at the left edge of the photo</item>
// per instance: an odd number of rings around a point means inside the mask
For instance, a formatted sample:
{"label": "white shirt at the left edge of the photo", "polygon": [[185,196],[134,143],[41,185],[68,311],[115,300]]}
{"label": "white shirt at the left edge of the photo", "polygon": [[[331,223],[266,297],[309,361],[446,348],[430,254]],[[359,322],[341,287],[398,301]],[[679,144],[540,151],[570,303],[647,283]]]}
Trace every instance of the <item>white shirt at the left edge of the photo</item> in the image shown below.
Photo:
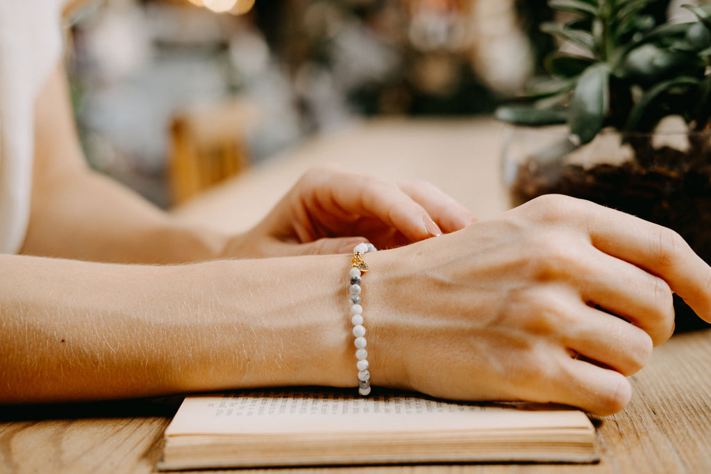
{"label": "white shirt at the left edge of the photo", "polygon": [[62,48],[63,0],[0,0],[0,253],[20,249],[30,213],[33,108]]}

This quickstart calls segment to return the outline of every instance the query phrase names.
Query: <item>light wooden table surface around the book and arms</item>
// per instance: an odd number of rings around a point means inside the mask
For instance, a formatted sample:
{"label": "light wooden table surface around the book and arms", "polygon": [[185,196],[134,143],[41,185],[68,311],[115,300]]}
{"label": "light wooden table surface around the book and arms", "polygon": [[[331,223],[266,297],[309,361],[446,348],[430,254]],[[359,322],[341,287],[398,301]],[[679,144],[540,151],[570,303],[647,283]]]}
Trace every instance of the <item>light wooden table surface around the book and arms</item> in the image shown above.
{"label": "light wooden table surface around the book and arms", "polygon": [[[371,122],[321,137],[175,211],[226,230],[252,224],[305,168],[345,163],[440,185],[481,218],[506,209],[501,126],[486,120]],[[675,335],[631,377],[627,409],[596,419],[596,465],[415,465],[239,473],[711,473],[711,331]],[[0,473],[152,473],[177,399],[0,408]]]}

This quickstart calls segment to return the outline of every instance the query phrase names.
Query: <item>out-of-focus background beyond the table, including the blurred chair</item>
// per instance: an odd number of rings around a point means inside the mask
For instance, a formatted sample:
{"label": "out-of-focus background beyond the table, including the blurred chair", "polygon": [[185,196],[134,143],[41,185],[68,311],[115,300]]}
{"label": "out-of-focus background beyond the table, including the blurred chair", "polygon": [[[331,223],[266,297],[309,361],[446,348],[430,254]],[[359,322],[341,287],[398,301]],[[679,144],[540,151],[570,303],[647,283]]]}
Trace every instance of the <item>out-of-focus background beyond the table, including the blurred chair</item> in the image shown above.
{"label": "out-of-focus background beyond the table, including the blurred chair", "polygon": [[68,18],[90,165],[168,208],[375,116],[489,114],[553,47],[542,0],[101,0]]}

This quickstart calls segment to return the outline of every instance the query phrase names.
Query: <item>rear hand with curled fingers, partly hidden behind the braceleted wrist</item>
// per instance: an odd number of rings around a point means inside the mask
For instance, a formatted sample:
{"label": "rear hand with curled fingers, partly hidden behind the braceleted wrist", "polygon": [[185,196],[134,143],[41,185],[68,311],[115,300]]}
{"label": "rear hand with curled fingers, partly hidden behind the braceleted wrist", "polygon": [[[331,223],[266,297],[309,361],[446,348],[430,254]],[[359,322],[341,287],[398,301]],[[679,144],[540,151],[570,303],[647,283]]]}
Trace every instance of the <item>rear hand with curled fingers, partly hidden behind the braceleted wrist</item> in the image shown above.
{"label": "rear hand with curled fingers, partly hidden behind the braceleted wrist", "polygon": [[306,172],[274,210],[228,247],[229,255],[279,257],[396,247],[476,221],[432,184],[395,184],[332,165]]}

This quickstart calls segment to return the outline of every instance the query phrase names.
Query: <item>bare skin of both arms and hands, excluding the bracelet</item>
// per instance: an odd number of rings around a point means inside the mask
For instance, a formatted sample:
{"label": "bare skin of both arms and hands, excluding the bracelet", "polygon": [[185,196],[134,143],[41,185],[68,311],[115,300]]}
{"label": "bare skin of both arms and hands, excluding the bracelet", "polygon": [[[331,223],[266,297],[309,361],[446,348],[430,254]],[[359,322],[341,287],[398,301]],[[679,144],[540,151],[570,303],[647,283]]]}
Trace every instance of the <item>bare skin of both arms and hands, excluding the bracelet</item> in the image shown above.
{"label": "bare skin of both arms and hands, excluding the bracelet", "polygon": [[38,97],[30,225],[0,255],[0,403],[354,387],[366,240],[375,387],[611,414],[673,293],[711,320],[711,269],[675,232],[564,196],[476,222],[427,183],[325,166],[244,234],[188,227],[87,169],[66,92],[58,70]]}

